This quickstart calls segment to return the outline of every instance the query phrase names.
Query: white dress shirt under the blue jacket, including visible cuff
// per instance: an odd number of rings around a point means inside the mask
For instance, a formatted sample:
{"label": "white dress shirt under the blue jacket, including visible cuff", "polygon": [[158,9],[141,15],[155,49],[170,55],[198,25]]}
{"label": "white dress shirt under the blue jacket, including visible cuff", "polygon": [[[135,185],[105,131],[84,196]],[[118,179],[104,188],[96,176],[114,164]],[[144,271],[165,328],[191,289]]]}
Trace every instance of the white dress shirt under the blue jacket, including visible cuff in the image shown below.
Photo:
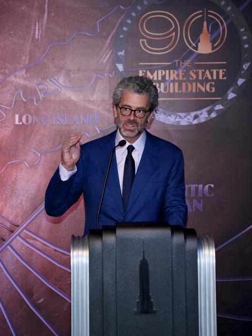
{"label": "white dress shirt under the blue jacket, including visible cuff", "polygon": [[[115,146],[118,144],[119,141],[121,141],[123,139],[124,138],[120,135],[119,130],[117,130],[116,137],[115,137]],[[130,142],[126,141],[126,144],[123,147],[117,147],[116,150],[115,150],[121,194],[122,194],[124,164],[125,164],[125,159],[126,159],[127,154],[128,154],[127,147],[131,144],[135,147],[135,149],[132,152],[132,156],[133,156],[133,159],[135,161],[135,173],[137,173],[137,169],[138,169],[140,160],[142,158],[145,141],[146,141],[146,134],[145,134],[145,131],[143,131],[143,133],[137,139],[137,141],[135,141],[134,143],[130,143]],[[112,150],[112,148],[111,148],[111,150]],[[74,167],[73,171],[68,171],[66,168],[64,168],[62,166],[62,163],[59,164],[59,175],[60,175],[60,179],[62,181],[67,181],[70,178],[70,176],[72,176],[73,174],[76,173],[76,171],[77,171],[76,166]]]}

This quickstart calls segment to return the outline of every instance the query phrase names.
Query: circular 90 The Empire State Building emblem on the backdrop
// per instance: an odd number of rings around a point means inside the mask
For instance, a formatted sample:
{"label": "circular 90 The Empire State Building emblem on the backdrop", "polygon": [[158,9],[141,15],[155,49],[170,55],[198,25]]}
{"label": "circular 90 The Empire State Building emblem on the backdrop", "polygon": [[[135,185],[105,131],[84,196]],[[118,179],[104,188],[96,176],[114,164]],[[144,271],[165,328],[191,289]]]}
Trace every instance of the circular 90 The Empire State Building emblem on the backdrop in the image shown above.
{"label": "circular 90 The Empire State Building emblem on the backdrop", "polygon": [[136,1],[117,28],[114,68],[118,80],[152,79],[155,119],[198,124],[225,111],[246,85],[251,34],[229,0]]}

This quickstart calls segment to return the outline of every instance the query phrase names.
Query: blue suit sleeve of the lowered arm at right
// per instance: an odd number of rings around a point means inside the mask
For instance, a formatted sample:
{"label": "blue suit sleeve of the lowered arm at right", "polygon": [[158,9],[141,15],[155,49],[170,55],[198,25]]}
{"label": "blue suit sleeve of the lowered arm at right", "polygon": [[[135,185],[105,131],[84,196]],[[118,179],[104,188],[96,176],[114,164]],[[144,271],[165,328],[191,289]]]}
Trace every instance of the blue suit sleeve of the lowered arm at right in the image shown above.
{"label": "blue suit sleeve of the lowered arm at right", "polygon": [[169,174],[163,204],[164,220],[170,225],[185,227],[187,205],[185,203],[184,160],[182,151],[176,153],[174,164]]}

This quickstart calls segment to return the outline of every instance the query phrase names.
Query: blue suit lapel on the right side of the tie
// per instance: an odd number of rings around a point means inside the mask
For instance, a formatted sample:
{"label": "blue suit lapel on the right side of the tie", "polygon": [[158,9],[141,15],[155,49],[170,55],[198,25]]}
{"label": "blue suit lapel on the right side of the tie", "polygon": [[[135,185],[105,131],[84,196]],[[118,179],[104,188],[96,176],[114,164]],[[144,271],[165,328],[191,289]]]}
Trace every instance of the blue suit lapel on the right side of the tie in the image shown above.
{"label": "blue suit lapel on the right side of the tie", "polygon": [[159,157],[158,150],[159,147],[156,147],[153,144],[151,134],[146,132],[146,142],[143,155],[133,182],[129,201],[125,209],[126,211],[128,211],[133,206],[146,182],[150,178],[151,174],[154,172],[156,165],[159,162],[157,160],[157,158]]}

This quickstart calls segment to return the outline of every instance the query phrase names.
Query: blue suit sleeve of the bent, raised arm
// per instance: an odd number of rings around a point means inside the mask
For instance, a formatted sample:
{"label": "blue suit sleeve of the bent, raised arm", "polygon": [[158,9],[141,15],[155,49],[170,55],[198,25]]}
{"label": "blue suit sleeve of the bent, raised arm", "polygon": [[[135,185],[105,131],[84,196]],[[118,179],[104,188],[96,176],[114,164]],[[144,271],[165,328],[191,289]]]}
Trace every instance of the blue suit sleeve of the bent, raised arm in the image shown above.
{"label": "blue suit sleeve of the bent, raised arm", "polygon": [[47,215],[62,216],[82,194],[82,158],[76,164],[77,172],[67,181],[62,181],[57,169],[52,176],[45,194]]}

